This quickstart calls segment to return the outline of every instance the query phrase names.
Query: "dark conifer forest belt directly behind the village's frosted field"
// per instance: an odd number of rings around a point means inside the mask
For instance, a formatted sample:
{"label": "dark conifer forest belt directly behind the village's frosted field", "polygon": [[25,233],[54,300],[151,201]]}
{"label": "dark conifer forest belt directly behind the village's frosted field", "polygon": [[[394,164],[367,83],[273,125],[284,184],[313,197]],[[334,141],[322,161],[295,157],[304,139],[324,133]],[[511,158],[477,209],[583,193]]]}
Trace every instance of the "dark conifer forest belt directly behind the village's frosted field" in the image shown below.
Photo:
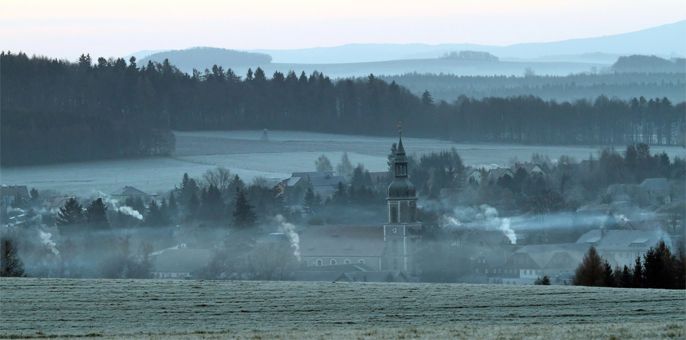
{"label": "dark conifer forest belt directly behind the village's frosted field", "polygon": [[332,81],[314,72],[214,66],[182,73],[165,60],[139,66],[0,54],[4,166],[165,155],[171,130],[276,129],[383,135],[397,121],[418,137],[526,144],[683,144],[686,104],[600,96],[573,103],[539,97],[434,101],[374,75]]}

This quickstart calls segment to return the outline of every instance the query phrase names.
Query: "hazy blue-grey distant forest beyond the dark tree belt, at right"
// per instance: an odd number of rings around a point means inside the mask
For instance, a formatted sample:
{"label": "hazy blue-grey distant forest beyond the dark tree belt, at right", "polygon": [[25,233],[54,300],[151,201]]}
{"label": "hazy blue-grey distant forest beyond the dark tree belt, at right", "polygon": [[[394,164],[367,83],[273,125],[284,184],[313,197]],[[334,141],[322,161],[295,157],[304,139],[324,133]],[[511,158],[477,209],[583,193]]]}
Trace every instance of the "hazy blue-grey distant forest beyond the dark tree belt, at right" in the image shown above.
{"label": "hazy blue-grey distant forest beyond the dark tree belt, at right", "polygon": [[429,90],[436,100],[454,101],[460,95],[474,98],[533,95],[545,100],[574,101],[599,95],[630,100],[633,97],[667,97],[686,100],[686,73],[589,73],[556,75],[453,75],[405,73],[379,79],[420,95]]}

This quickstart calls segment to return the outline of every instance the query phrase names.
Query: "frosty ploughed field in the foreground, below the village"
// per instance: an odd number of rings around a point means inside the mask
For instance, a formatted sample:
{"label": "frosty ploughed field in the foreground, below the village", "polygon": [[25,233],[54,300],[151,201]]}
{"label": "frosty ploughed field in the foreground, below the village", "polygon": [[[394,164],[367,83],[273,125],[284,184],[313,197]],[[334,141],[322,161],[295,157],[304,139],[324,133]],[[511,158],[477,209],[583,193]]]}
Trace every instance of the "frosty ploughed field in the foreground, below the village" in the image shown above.
{"label": "frosty ploughed field in the foreground, below the village", "polygon": [[3,278],[0,337],[683,339],[685,291]]}

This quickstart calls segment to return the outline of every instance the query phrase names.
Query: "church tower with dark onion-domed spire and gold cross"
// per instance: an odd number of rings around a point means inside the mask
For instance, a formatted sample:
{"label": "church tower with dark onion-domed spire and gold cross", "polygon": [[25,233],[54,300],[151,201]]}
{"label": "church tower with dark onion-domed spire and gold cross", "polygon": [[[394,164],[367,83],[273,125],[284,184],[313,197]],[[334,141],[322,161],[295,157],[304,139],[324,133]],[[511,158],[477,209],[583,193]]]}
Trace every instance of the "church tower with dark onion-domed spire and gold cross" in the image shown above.
{"label": "church tower with dark onion-domed spire and gold cross", "polygon": [[[402,134],[399,123],[398,133]],[[402,136],[398,142],[394,161],[395,178],[388,186],[388,223],[383,225],[383,239],[386,241],[385,265],[383,270],[414,272],[414,249],[416,236],[410,230],[420,228],[417,221],[417,197],[414,184],[407,176],[407,156]]]}

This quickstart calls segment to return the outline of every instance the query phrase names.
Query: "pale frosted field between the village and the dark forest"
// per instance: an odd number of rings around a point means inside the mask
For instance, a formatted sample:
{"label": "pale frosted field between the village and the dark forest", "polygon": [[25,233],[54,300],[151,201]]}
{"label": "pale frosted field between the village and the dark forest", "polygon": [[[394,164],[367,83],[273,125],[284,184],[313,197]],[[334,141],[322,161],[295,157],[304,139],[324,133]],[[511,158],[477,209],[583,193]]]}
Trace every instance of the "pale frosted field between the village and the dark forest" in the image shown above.
{"label": "pale frosted field between the village and the dark forest", "polygon": [[[244,180],[256,176],[288,177],[295,171],[314,171],[314,160],[326,154],[335,166],[344,151],[357,165],[370,171],[386,171],[386,155],[397,137],[348,136],[315,132],[270,131],[269,143],[260,142],[261,131],[176,132],[176,151],[170,158],[105,160],[36,167],[0,169],[0,183],[27,185],[39,190],[91,195],[112,193],[134,186],[147,193],[162,193],[174,188],[187,172],[199,178],[204,171],[223,165]],[[529,160],[539,152],[556,159],[566,154],[578,160],[595,154],[596,147],[498,145],[488,143],[458,144],[426,138],[403,138],[410,154],[423,154],[456,147],[466,165],[508,166],[510,158]],[[623,149],[623,147],[622,147]],[[665,150],[670,156],[685,156],[681,147],[654,147],[653,153]]]}

